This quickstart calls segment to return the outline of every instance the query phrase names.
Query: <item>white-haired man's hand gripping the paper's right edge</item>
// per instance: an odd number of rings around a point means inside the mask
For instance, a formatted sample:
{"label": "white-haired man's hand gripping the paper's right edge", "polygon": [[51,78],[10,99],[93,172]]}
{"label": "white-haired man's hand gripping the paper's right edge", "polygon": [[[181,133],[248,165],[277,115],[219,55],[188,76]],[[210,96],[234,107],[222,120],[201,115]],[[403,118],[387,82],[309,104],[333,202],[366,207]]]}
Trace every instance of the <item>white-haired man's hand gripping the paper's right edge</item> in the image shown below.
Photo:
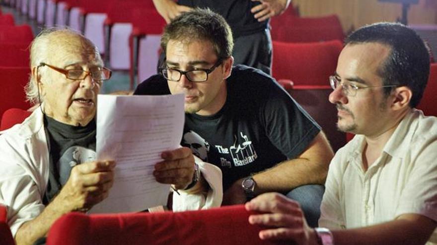
{"label": "white-haired man's hand gripping the paper's right edge", "polygon": [[153,171],[156,181],[172,184],[177,190],[184,190],[193,181],[194,157],[191,149],[181,147],[164,151],[161,157],[164,160],[156,163]]}

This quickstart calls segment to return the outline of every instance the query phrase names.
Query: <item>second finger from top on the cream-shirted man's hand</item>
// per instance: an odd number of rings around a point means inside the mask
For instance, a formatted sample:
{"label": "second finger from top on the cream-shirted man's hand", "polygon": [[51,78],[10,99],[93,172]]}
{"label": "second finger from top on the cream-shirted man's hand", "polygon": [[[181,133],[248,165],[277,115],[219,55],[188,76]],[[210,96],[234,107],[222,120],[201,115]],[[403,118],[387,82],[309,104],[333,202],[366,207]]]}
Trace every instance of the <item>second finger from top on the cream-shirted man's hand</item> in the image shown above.
{"label": "second finger from top on the cream-shirted man's hand", "polygon": [[300,212],[297,214],[256,214],[249,216],[249,223],[270,227],[299,228],[303,227],[303,216]]}

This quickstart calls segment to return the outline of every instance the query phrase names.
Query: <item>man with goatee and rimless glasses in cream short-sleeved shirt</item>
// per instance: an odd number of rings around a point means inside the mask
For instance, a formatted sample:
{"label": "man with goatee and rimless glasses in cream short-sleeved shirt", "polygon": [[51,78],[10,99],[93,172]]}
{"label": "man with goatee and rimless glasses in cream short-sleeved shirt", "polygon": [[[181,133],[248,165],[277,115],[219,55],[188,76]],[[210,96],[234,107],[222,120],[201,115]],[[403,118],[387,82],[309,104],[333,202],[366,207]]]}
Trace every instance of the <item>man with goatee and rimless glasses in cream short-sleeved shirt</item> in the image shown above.
{"label": "man with goatee and rimless glasses in cream short-sleeved shirt", "polygon": [[330,77],[329,101],[337,105],[338,128],[357,136],[331,162],[319,220],[325,228],[308,228],[296,202],[265,194],[246,204],[272,212],[249,217],[252,224],[270,226],[261,239],[437,243],[437,118],[414,108],[429,67],[424,42],[401,24],[373,24],[348,37]]}

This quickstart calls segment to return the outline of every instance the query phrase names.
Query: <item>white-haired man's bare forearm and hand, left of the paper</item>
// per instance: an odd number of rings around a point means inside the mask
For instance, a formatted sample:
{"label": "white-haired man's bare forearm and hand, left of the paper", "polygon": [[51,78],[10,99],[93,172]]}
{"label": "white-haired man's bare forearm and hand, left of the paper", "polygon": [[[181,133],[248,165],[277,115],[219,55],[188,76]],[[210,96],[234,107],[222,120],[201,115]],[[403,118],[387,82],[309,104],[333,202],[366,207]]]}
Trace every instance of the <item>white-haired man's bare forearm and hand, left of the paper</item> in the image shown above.
{"label": "white-haired man's bare forearm and hand, left of the paper", "polygon": [[113,161],[82,163],[73,167],[58,196],[35,219],[24,223],[15,235],[17,245],[32,245],[47,235],[53,223],[70,211],[85,211],[108,196],[113,183]]}

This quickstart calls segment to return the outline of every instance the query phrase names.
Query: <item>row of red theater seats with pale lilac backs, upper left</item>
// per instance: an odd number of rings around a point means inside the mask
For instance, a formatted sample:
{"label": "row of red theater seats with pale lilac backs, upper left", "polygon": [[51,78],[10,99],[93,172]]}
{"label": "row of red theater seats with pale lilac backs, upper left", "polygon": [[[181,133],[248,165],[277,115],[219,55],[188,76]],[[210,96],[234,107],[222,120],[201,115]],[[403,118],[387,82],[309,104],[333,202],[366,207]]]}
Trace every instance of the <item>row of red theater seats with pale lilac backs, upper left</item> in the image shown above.
{"label": "row of red theater seats with pale lilac backs, upper left", "polygon": [[152,0],[8,0],[46,27],[69,26],[100,50],[109,68],[130,71],[130,88],[156,73],[165,26]]}

